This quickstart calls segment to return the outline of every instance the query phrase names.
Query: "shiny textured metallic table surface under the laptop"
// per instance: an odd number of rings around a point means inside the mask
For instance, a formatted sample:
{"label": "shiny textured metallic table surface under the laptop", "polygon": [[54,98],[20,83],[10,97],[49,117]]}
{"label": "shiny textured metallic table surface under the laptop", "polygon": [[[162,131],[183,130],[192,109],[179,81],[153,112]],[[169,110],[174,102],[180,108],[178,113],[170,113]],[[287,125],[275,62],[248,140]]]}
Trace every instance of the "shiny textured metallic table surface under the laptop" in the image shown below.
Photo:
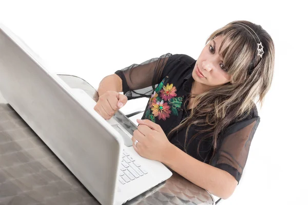
{"label": "shiny textured metallic table surface under the laptop", "polygon": [[[97,91],[82,78],[59,75],[94,100]],[[50,151],[0,93],[0,204],[99,204]],[[174,173],[126,204],[215,204],[204,189]]]}

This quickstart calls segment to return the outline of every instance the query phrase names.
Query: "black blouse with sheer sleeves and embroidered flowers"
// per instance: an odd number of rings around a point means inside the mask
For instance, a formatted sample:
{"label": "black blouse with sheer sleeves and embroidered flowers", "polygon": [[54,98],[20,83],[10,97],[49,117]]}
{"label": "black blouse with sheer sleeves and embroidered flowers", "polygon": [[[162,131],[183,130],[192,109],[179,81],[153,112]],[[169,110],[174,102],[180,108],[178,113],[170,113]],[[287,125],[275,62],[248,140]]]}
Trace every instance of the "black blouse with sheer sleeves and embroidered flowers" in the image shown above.
{"label": "black blouse with sheer sleeves and embroidered flowers", "polygon": [[[196,60],[185,54],[170,53],[152,58],[142,64],[133,64],[115,74],[122,79],[123,93],[128,99],[148,97],[142,119],[149,119],[160,125],[167,135],[172,128],[180,124],[190,110],[184,107],[188,100],[192,82],[192,70]],[[186,103],[185,106],[188,104]],[[248,156],[249,147],[260,122],[257,108],[248,117],[231,124],[220,134],[218,149],[213,153],[211,138],[201,140],[199,153],[197,148],[202,136],[190,141],[189,137],[198,132],[191,126],[185,143],[186,129],[175,132],[169,141],[187,154],[225,170],[239,182]],[[212,155],[213,158],[210,160]]]}

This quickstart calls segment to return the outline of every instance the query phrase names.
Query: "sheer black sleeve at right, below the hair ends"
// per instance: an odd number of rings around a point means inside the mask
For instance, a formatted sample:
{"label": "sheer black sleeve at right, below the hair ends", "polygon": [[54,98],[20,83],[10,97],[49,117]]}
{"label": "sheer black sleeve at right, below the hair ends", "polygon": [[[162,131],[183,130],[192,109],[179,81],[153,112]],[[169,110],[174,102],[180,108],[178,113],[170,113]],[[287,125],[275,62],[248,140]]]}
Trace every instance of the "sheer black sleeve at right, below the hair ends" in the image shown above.
{"label": "sheer black sleeve at right, below the hair ends", "polygon": [[225,170],[239,182],[259,122],[260,117],[257,116],[230,126],[219,142],[220,147],[215,152],[211,165]]}

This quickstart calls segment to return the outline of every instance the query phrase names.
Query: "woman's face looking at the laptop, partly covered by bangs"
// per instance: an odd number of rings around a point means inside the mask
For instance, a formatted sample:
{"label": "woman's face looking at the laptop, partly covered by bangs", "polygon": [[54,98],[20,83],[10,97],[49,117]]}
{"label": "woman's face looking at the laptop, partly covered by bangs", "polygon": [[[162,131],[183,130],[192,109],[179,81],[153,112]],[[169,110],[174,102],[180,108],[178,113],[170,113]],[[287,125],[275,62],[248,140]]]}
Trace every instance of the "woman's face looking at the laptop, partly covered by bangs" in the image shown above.
{"label": "woman's face looking at the laptop, partly covered by bangs", "polygon": [[[206,87],[217,87],[231,80],[231,75],[225,71],[222,56],[218,54],[221,41],[222,36],[216,36],[205,45],[192,71],[195,81]],[[223,50],[226,45],[228,45],[228,41],[221,49]]]}

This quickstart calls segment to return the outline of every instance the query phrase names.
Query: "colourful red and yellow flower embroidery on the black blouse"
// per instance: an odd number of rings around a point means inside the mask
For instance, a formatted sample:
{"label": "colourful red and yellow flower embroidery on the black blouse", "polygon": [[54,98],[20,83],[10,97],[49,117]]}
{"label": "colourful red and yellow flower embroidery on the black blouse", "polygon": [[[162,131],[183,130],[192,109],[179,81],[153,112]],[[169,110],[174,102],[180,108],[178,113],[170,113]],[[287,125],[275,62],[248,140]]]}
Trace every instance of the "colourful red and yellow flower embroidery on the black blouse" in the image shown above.
{"label": "colourful red and yellow flower embroidery on the black blouse", "polygon": [[[168,78],[168,76],[166,76]],[[145,119],[150,119],[155,122],[155,117],[158,119],[166,120],[170,117],[170,113],[178,116],[178,111],[181,110],[183,98],[176,97],[177,89],[173,84],[167,83],[164,85],[165,78],[155,88],[155,91],[151,95],[148,103],[148,108],[145,113]],[[160,95],[158,95],[160,93]]]}

